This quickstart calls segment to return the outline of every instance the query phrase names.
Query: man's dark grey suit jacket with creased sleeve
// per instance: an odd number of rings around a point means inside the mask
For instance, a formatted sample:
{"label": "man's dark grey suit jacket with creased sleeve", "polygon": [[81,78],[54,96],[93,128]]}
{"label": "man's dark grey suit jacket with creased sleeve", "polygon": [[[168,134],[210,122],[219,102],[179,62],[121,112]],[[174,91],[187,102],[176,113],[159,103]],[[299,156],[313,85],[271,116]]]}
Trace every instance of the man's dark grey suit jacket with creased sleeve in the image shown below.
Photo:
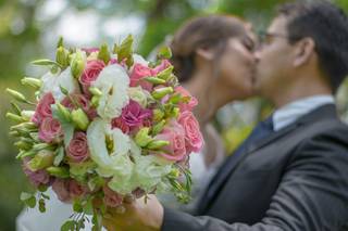
{"label": "man's dark grey suit jacket with creased sleeve", "polygon": [[195,216],[164,208],[162,231],[348,230],[348,127],[333,104],[227,162]]}

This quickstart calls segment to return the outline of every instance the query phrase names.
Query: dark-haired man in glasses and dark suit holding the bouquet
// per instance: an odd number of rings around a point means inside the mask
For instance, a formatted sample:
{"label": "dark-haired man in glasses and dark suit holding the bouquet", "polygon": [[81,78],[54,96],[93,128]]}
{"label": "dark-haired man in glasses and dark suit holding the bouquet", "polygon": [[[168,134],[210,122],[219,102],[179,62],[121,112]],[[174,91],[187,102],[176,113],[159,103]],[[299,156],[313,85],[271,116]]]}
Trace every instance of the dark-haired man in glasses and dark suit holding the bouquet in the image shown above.
{"label": "dark-haired man in glasses and dark suit holding the bouquet", "polygon": [[254,87],[277,110],[222,166],[197,215],[153,196],[111,211],[110,230],[347,230],[348,127],[333,94],[348,74],[348,18],[326,1],[298,1],[263,36]]}

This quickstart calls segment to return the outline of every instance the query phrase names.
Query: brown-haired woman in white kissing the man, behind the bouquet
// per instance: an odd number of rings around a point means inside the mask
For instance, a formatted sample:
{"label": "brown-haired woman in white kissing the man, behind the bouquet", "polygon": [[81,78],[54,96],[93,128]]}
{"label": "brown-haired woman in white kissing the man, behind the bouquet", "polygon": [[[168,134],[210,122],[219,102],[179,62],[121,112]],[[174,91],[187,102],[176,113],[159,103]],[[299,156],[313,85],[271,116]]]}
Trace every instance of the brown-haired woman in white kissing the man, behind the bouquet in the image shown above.
{"label": "brown-haired woman in white kissing the man, behind the bouquet", "polygon": [[195,115],[206,145],[202,153],[190,155],[192,202],[183,207],[160,197],[169,206],[190,211],[225,156],[213,117],[227,103],[251,97],[254,38],[250,24],[240,18],[210,15],[184,24],[170,47],[178,80],[199,102]]}

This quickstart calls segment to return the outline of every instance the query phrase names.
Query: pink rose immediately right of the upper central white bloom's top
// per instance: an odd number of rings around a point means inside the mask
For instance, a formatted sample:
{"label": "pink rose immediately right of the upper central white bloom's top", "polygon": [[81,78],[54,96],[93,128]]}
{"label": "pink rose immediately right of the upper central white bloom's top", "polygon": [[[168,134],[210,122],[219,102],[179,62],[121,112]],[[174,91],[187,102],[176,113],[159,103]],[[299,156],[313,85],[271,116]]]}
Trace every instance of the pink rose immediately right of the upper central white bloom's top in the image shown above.
{"label": "pink rose immediately right of the upper central white bloom's top", "polygon": [[141,86],[147,91],[152,91],[152,84],[144,80],[142,78],[153,76],[154,73],[150,67],[141,65],[139,63],[135,64],[133,72],[130,74],[130,87]]}

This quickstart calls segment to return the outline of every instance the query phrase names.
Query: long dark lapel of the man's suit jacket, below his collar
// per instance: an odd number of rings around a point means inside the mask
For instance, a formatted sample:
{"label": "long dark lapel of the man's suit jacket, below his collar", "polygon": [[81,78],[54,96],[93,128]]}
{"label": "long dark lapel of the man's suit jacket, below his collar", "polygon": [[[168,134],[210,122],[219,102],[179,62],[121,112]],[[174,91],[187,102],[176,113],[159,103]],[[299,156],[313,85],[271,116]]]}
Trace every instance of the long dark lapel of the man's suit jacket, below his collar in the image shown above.
{"label": "long dark lapel of the man's suit jacket, below his collar", "polygon": [[237,156],[236,158],[228,158],[226,163],[226,170],[221,174],[219,178],[213,178],[214,182],[210,184],[207,189],[203,200],[200,200],[200,204],[198,205],[198,214],[203,214],[209,207],[212,205],[214,200],[216,200],[220,190],[222,189],[224,182],[228,179],[237,166],[243,163],[243,161],[251,153],[257,152],[258,150],[262,149],[263,146],[276,142],[276,140],[281,139],[282,137],[288,134],[299,126],[306,125],[308,123],[313,123],[314,120],[324,119],[328,117],[337,117],[336,108],[334,104],[328,104],[321,106],[313,112],[300,117],[296,123],[276,131],[269,137],[265,137],[258,142],[251,143],[248,145],[243,154]]}

